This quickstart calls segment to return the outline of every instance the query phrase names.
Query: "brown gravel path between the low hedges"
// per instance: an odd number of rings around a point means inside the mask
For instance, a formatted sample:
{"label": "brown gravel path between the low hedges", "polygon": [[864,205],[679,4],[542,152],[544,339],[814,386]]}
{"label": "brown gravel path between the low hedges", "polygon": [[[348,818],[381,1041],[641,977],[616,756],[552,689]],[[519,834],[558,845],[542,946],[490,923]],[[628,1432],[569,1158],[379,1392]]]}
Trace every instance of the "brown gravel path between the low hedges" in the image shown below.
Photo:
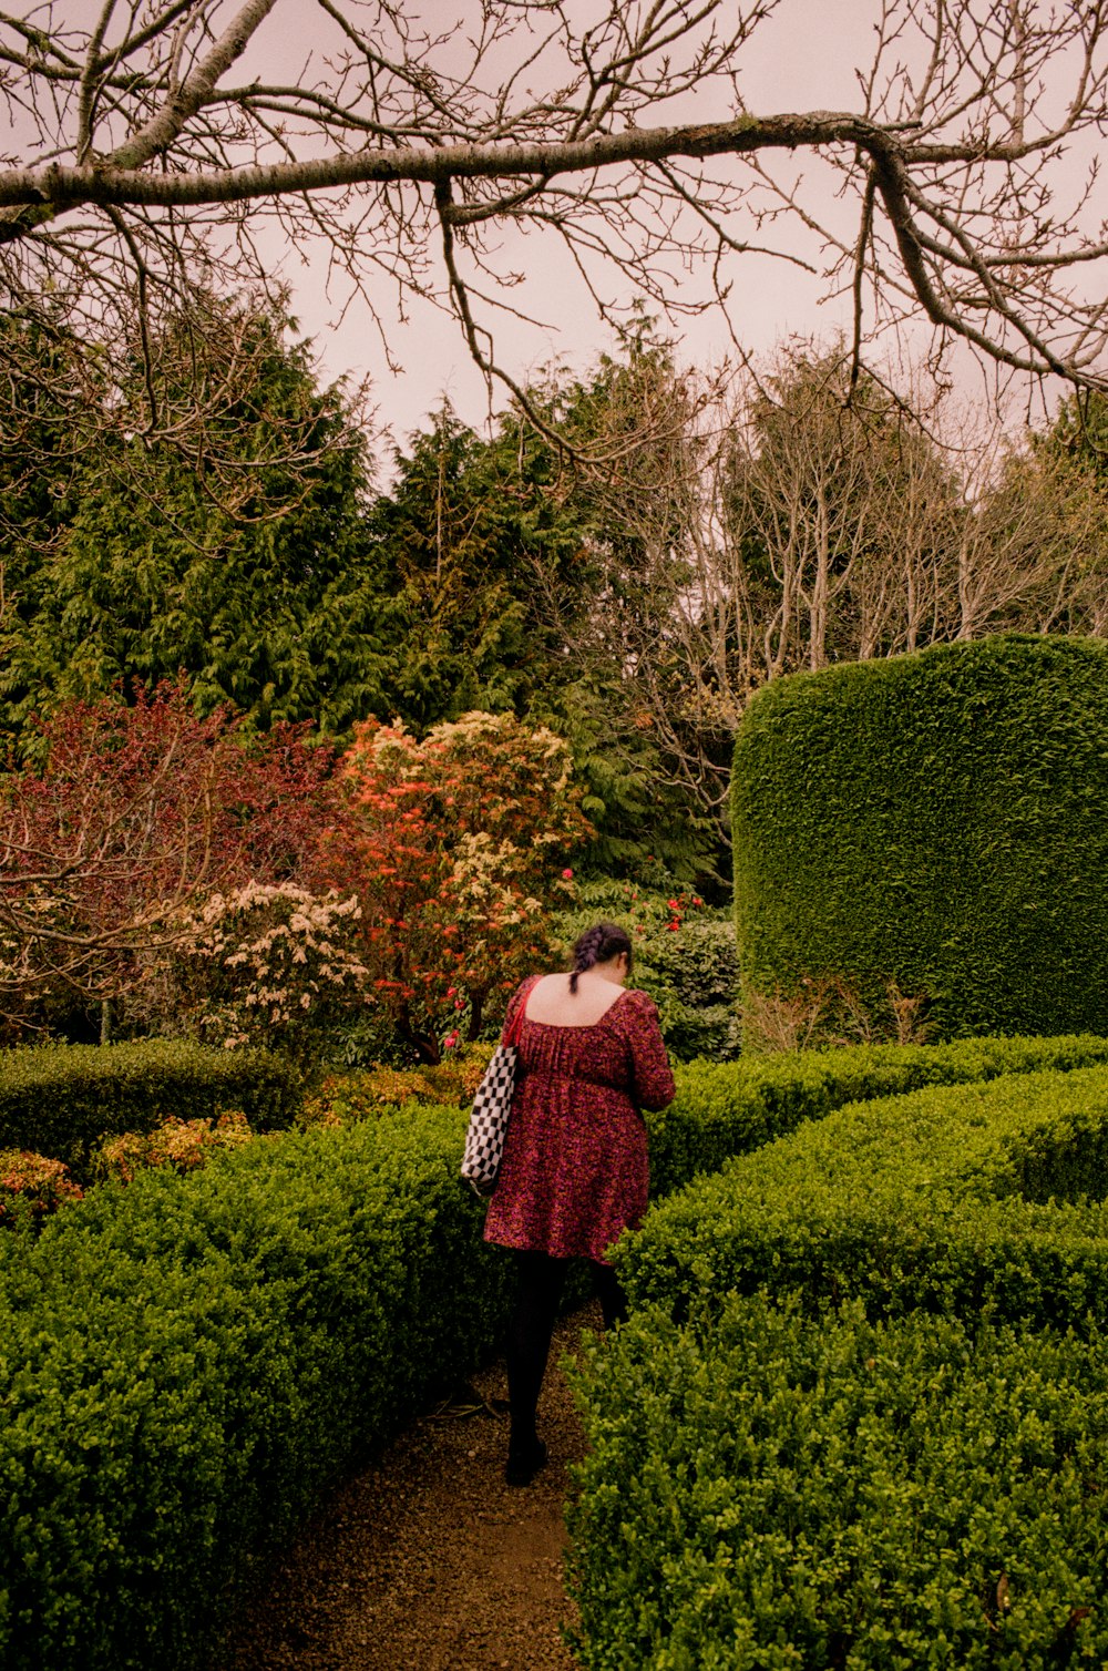
{"label": "brown gravel path between the low hedges", "polygon": [[598,1307],[565,1318],[540,1432],[546,1469],[503,1484],[503,1362],[343,1486],[234,1621],[219,1671],[573,1671],[562,1641],[567,1465],[583,1450],[560,1367]]}

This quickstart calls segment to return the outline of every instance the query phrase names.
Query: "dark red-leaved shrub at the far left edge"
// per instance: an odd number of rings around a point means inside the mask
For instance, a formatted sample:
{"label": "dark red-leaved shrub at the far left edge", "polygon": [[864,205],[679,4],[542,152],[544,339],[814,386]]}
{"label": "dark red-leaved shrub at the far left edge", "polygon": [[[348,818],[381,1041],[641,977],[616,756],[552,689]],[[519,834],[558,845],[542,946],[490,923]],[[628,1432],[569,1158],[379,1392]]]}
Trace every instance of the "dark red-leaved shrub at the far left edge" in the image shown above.
{"label": "dark red-leaved shrub at the far left edge", "polygon": [[0,1013],[107,1004],[214,889],[296,874],[331,767],[299,729],[197,717],[180,683],[57,710],[42,764],[0,774]]}

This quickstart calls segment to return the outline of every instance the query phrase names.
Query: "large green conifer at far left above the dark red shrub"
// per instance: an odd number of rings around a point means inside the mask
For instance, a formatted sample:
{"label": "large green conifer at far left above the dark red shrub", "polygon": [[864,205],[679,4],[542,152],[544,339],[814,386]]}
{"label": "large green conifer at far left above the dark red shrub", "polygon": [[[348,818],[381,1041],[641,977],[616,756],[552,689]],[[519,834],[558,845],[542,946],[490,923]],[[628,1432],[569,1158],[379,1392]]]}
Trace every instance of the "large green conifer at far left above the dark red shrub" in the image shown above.
{"label": "large green conifer at far left above the dark red shrub", "polygon": [[17,742],[43,707],[179,672],[201,712],[229,702],[259,727],[341,734],[386,710],[396,625],[353,409],[319,391],[284,319],[214,304],[202,346],[189,324],[162,344],[155,393],[170,404],[182,361],[207,356],[204,449],[107,434],[95,453],[57,455],[53,480],[43,453],[50,538],[35,531],[43,511],[8,516],[0,725]]}

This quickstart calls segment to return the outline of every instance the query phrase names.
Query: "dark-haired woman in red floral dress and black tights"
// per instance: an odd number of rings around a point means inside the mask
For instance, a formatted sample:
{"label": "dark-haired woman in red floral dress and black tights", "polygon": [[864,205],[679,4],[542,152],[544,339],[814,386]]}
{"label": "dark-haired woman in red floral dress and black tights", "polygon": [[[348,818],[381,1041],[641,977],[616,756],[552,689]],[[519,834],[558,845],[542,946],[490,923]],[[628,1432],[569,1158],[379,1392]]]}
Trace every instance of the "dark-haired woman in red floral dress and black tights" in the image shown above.
{"label": "dark-haired woman in red floral dress and black tights", "polygon": [[592,1262],[605,1327],[627,1302],[605,1253],[647,1208],[640,1110],[673,1100],[658,1014],[628,991],[632,942],[598,922],[573,947],[573,971],[531,976],[508,1004],[505,1039],[520,1054],[511,1118],[485,1240],[513,1248],[518,1297],[508,1332],[510,1486],[546,1460],[535,1429],[567,1262]]}

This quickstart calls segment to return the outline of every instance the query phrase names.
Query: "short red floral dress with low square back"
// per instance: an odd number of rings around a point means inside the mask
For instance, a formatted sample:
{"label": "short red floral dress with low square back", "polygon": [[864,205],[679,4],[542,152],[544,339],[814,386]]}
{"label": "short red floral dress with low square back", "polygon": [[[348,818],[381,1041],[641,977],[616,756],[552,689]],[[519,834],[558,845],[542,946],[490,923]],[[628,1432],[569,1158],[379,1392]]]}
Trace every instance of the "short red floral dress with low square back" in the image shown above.
{"label": "short red floral dress with low square back", "polygon": [[673,1101],[673,1074],[645,993],[620,993],[600,1021],[563,1028],[520,1019],[538,979],[523,983],[505,1018],[505,1039],[518,1021],[520,1078],[485,1240],[603,1260],[647,1210],[640,1110]]}

